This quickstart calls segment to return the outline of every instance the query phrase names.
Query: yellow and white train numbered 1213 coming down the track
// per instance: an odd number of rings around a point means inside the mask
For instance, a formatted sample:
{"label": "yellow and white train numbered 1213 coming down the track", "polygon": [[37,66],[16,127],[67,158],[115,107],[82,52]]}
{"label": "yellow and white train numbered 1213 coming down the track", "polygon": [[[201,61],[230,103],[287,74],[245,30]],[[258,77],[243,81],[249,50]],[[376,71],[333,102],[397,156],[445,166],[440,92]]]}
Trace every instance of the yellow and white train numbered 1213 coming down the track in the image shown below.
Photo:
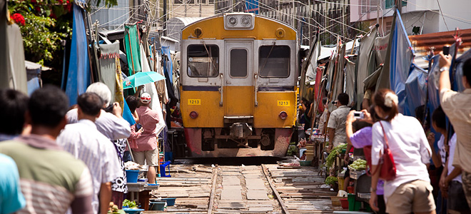
{"label": "yellow and white train numbered 1213 coming down the track", "polygon": [[292,27],[245,13],[182,29],[181,113],[193,157],[285,156],[296,121]]}

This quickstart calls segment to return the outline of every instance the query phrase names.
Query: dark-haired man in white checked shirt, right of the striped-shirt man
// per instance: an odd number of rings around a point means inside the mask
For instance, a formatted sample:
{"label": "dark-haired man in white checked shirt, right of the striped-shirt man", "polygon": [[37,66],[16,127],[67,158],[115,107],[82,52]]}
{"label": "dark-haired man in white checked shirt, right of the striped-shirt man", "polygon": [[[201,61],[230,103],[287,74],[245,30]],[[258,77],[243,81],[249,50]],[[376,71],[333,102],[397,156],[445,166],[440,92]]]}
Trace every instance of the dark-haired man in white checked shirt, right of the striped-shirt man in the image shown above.
{"label": "dark-haired man in white checked shirt, right of the striped-shirt man", "polygon": [[106,214],[111,201],[111,181],[123,176],[123,172],[113,143],[96,129],[102,99],[96,93],[82,93],[77,104],[78,123],[67,125],[57,143],[88,166],[93,180],[93,213],[98,213],[99,205],[99,213]]}

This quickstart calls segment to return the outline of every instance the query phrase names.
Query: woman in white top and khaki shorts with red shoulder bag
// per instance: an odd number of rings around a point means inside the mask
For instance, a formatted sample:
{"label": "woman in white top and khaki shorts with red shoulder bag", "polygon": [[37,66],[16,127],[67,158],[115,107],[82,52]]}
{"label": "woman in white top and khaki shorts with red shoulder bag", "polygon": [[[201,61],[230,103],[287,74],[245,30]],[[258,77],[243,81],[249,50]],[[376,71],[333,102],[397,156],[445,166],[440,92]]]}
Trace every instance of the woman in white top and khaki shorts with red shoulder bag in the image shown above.
{"label": "woman in white top and khaki shorts with red shoulder bag", "polygon": [[382,178],[387,213],[435,214],[427,172],[432,153],[427,137],[416,118],[398,113],[397,103],[397,95],[389,89],[380,89],[373,96],[380,121],[372,129],[370,206],[378,210],[376,186]]}

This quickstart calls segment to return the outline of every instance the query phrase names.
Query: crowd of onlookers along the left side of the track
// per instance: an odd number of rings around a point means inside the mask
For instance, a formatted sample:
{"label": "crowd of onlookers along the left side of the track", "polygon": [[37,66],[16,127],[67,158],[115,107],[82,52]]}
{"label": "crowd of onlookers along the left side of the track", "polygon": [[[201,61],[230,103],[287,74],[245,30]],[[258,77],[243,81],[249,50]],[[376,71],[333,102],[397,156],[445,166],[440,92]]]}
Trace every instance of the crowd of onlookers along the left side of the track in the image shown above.
{"label": "crowd of onlookers along the left side of the track", "polygon": [[104,214],[110,202],[121,208],[129,147],[155,183],[161,118],[149,108],[151,96],[139,94],[126,98],[137,122],[130,126],[103,83],[88,86],[71,107],[56,86],[30,97],[1,89],[0,117],[9,122],[0,125],[0,213]]}

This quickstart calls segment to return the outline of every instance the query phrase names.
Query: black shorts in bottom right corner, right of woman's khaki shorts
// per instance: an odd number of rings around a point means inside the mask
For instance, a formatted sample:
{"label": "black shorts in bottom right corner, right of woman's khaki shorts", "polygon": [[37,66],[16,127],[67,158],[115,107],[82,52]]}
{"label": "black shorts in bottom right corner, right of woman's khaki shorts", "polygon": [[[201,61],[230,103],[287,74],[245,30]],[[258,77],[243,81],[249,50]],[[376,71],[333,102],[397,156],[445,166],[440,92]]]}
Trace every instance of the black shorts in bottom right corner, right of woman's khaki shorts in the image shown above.
{"label": "black shorts in bottom right corner, right of woman's khaki shorts", "polygon": [[460,213],[470,213],[467,205],[465,190],[460,182],[452,180],[448,188],[447,209],[459,211]]}

